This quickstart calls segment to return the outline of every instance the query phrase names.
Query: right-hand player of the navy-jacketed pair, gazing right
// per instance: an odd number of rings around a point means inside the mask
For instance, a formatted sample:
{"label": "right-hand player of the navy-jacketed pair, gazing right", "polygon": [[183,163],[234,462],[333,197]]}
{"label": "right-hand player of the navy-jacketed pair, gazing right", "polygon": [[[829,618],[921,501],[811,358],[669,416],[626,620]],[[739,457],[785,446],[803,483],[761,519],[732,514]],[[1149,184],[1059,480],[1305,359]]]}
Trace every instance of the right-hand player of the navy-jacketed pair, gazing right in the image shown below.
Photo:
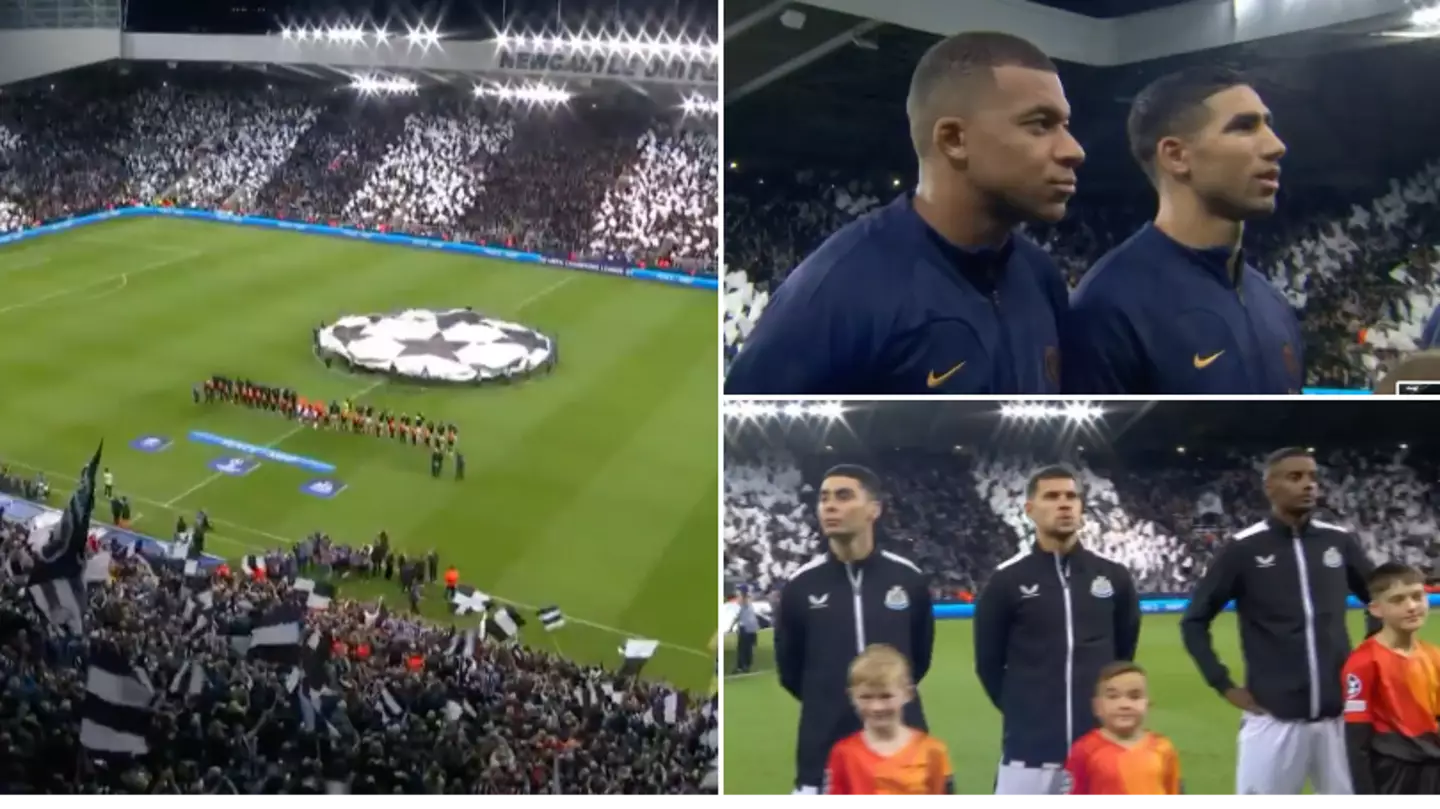
{"label": "right-hand player of the navy-jacketed pair, gazing right", "polygon": [[1300,393],[1290,302],[1246,261],[1246,222],[1270,216],[1284,143],[1240,73],[1194,68],[1135,96],[1130,153],[1155,220],[1084,275],[1066,321],[1066,393]]}

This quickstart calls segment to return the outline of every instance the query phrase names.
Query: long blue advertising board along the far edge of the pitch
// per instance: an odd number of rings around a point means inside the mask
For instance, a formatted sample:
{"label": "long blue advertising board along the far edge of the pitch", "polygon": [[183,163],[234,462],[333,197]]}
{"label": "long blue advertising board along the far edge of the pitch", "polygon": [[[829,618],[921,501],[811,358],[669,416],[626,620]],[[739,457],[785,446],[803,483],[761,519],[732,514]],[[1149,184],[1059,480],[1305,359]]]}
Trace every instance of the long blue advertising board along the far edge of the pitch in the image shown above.
{"label": "long blue advertising board along the far edge of the pitch", "polygon": [[720,279],[711,276],[687,275],[683,272],[665,272],[658,269],[645,269],[638,266],[626,266],[626,265],[598,262],[598,261],[570,261],[554,256],[546,256],[540,253],[527,253],[524,250],[511,250],[507,248],[490,248],[485,245],[469,245],[465,242],[446,242],[444,239],[428,239],[422,236],[377,233],[374,230],[359,230],[354,227],[331,227],[328,225],[312,225],[308,222],[288,222],[284,219],[269,219],[265,216],[248,216],[239,213],[196,210],[187,207],[151,207],[151,206],[117,207],[114,210],[105,210],[101,213],[91,213],[85,216],[63,219],[59,222],[50,222],[48,225],[40,225],[39,227],[30,227],[26,230],[16,230],[13,233],[4,233],[0,235],[0,245],[9,245],[12,242],[19,242],[22,239],[33,239],[36,236],[45,236],[48,233],[59,233],[62,230],[69,230],[71,227],[79,227],[82,225],[91,225],[94,222],[104,222],[107,219],[120,219],[125,216],[170,216],[177,219],[203,219],[209,222],[226,222],[230,225],[248,225],[252,227],[269,227],[275,230],[291,230],[298,233],[317,233],[323,236],[360,239],[364,242],[376,242],[380,245],[402,245],[409,248],[423,248],[429,250],[441,250],[448,253],[467,253],[492,259],[539,263],[544,266],[560,266],[564,269],[600,272],[605,275],[638,278],[641,281],[657,281],[661,284],[671,284],[675,286],[707,289],[711,292],[720,289]]}

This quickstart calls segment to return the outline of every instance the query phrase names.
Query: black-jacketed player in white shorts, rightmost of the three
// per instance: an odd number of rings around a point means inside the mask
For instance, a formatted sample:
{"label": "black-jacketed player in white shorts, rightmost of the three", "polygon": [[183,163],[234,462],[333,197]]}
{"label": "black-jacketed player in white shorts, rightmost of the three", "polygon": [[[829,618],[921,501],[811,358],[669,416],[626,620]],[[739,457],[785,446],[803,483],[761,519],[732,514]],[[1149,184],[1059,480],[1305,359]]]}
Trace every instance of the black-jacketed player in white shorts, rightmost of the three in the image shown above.
{"label": "black-jacketed player in white shorts, rightmost of the three", "polygon": [[[1369,603],[1374,570],[1355,534],[1315,517],[1319,469],[1303,448],[1266,459],[1270,517],[1220,547],[1181,619],[1185,651],[1205,682],[1240,708],[1236,795],[1299,799],[1352,796],[1341,720],[1345,622],[1354,593]],[[1236,685],[1210,628],[1234,602],[1246,684]]]}

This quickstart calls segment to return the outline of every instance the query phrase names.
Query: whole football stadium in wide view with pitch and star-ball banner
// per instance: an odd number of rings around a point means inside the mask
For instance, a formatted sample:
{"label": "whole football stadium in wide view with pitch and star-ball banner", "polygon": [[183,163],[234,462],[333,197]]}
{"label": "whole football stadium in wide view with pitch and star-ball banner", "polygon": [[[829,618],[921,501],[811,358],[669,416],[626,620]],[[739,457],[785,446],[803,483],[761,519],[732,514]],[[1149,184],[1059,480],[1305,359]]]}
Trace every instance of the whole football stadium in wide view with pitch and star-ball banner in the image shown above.
{"label": "whole football stadium in wide view with pitch and star-ball banner", "polygon": [[714,4],[184,6],[0,7],[3,790],[713,795]]}

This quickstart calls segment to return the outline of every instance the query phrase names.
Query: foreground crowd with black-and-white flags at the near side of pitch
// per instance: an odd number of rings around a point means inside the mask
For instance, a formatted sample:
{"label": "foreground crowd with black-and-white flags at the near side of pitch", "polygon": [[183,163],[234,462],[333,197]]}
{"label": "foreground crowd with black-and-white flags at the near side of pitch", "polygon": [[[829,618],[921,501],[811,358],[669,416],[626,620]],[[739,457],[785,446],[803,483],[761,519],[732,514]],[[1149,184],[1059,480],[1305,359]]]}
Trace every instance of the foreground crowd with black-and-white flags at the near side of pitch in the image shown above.
{"label": "foreground crowd with black-and-white flags at the near side of pitch", "polygon": [[[24,596],[26,534],[0,521],[0,795],[9,799],[713,796],[713,701],[516,643],[459,642],[452,628],[384,609],[341,599],[311,609],[297,690],[295,668],[246,645],[259,643],[258,616],[307,603],[297,571],[337,561],[338,547],[318,557],[308,543],[279,548],[268,564],[279,576],[197,584],[184,561],[99,546],[92,553],[111,554],[108,577],[89,586],[85,633],[68,636]],[[203,625],[192,609],[200,589],[210,602]],[[96,698],[86,694],[86,659],[115,648],[156,695],[144,754],[82,746],[81,714]]]}

